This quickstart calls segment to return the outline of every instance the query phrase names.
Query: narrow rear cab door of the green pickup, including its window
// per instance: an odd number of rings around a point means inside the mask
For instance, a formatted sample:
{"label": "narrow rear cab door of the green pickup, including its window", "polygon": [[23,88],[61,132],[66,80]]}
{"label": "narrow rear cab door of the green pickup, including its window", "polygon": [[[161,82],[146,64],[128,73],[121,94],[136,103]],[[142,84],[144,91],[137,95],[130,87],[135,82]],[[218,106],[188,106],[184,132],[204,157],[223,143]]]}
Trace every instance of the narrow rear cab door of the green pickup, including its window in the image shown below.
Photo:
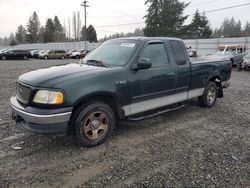
{"label": "narrow rear cab door of the green pickup, including its window", "polygon": [[177,65],[176,94],[187,96],[191,82],[191,70],[186,48],[181,41],[170,40],[172,60]]}

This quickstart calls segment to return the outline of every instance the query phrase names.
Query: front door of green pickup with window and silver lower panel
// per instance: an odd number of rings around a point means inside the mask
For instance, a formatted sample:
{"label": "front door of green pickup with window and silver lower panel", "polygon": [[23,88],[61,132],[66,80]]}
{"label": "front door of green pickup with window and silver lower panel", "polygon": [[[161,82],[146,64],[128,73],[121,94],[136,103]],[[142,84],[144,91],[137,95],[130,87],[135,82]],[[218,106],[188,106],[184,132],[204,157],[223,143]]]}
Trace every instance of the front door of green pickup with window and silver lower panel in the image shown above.
{"label": "front door of green pickup with window and silver lower panel", "polygon": [[164,42],[149,42],[138,62],[148,60],[152,67],[128,75],[131,115],[164,106],[166,96],[175,92],[176,68],[169,63]]}

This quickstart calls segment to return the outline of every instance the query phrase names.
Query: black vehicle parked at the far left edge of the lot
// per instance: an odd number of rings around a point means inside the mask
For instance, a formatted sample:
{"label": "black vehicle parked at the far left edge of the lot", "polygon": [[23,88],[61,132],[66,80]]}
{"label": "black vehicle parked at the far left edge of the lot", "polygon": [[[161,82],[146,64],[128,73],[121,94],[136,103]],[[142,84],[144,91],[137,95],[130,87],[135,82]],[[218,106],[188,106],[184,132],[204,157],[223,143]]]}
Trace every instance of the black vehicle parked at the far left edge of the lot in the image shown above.
{"label": "black vehicle parked at the far left edge of the lot", "polygon": [[6,50],[0,54],[2,60],[7,59],[24,59],[27,60],[30,57],[30,53],[25,50]]}

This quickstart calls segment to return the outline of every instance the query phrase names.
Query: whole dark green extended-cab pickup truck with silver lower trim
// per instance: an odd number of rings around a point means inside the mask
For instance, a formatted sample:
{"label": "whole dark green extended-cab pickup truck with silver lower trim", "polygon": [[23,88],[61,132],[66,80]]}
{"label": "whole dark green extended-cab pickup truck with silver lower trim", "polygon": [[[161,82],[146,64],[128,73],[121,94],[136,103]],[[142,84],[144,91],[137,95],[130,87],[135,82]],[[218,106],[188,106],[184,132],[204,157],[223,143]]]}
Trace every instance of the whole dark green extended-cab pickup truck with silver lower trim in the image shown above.
{"label": "whole dark green extended-cab pickup truck with silver lower trim", "polygon": [[195,97],[212,107],[230,85],[232,63],[192,61],[180,39],[110,40],[78,64],[20,76],[12,118],[32,132],[73,134],[80,145],[95,146],[123,119],[151,117]]}

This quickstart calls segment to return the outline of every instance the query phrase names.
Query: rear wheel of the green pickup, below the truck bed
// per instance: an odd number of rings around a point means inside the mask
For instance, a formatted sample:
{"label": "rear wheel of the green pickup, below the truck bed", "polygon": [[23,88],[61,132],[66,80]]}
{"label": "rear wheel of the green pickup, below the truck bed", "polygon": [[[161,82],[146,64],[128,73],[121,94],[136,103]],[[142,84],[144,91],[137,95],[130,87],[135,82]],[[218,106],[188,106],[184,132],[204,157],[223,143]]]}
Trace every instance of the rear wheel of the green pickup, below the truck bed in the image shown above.
{"label": "rear wheel of the green pickup, below the truck bed", "polygon": [[202,96],[198,97],[198,101],[203,107],[212,107],[218,97],[218,88],[215,82],[208,82]]}

